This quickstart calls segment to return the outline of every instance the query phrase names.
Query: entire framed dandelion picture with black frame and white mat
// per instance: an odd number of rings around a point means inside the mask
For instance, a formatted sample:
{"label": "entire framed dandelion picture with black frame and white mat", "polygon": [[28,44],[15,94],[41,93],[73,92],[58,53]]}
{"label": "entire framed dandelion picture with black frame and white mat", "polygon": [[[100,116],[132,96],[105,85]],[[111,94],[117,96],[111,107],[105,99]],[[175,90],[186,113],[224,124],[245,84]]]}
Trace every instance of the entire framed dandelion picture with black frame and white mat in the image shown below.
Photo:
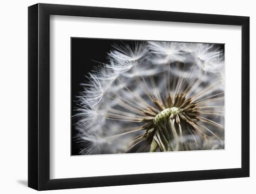
{"label": "entire framed dandelion picture with black frame and white mat", "polygon": [[249,17],[28,7],[28,187],[249,176]]}

